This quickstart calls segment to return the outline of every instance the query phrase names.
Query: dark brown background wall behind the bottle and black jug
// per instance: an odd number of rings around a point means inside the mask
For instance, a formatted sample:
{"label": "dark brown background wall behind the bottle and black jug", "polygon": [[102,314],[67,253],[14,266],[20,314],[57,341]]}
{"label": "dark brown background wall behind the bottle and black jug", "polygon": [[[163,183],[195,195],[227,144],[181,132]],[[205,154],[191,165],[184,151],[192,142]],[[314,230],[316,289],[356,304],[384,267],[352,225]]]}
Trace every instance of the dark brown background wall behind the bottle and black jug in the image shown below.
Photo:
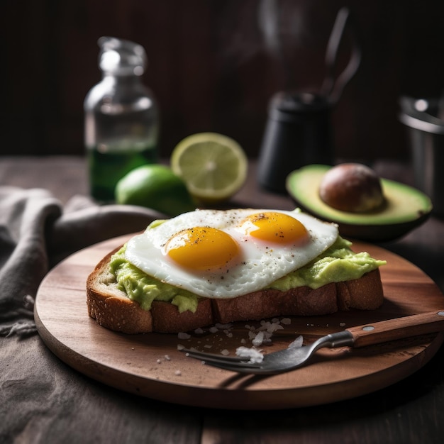
{"label": "dark brown background wall behind the bottle and black jug", "polygon": [[218,131],[255,156],[270,96],[320,86],[344,5],[363,59],[333,113],[336,154],[405,158],[398,100],[443,89],[444,1],[4,0],[0,153],[82,154],[83,99],[100,79],[96,40],[113,35],[148,53],[162,155],[190,133]]}

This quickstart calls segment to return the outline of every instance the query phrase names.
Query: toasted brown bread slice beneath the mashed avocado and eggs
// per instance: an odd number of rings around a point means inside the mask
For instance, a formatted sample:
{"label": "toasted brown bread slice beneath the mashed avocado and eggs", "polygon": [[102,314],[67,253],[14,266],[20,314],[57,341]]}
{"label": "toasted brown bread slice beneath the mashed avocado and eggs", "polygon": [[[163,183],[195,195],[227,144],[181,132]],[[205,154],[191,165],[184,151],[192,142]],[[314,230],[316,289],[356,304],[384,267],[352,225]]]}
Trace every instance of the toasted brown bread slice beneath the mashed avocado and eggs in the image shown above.
{"label": "toasted brown bread slice beneath the mashed avocado and eggs", "polygon": [[288,292],[265,289],[231,299],[201,299],[196,312],[179,313],[177,306],[153,301],[150,311],[117,288],[109,271],[109,252],[87,279],[87,306],[91,318],[121,333],[179,333],[215,323],[259,321],[276,316],[320,316],[350,309],[374,310],[384,292],[379,269],[360,279],[326,284],[318,289],[299,287]]}

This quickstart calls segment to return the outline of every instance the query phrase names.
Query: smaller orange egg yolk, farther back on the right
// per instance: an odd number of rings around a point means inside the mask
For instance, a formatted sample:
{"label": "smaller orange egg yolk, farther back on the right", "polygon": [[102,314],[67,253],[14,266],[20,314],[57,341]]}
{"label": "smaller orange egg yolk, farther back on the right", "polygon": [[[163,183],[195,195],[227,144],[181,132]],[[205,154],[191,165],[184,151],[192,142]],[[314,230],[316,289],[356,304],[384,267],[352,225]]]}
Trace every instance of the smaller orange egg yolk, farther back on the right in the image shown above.
{"label": "smaller orange egg yolk, farther back on the right", "polygon": [[241,229],[254,238],[282,245],[308,238],[308,231],[301,222],[277,212],[250,214],[244,219]]}

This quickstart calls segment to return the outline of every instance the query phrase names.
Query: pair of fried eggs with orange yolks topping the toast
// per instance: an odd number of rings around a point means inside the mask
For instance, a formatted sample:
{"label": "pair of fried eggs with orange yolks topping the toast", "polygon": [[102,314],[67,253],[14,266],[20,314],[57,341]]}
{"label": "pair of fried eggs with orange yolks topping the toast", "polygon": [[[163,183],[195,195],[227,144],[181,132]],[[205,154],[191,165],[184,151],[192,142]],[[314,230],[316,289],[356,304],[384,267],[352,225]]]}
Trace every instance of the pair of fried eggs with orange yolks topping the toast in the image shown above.
{"label": "pair of fried eggs with orange yolks topping the toast", "polygon": [[258,291],[329,248],[338,226],[300,211],[196,210],[152,223],[126,260],[162,282],[209,298]]}

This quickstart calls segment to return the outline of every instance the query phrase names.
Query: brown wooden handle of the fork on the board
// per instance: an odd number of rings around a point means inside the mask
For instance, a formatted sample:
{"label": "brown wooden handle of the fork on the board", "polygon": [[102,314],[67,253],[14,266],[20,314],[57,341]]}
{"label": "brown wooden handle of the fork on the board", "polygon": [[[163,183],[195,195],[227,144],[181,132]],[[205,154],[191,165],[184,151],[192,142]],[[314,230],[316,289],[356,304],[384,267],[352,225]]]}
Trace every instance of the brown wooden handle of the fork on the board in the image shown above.
{"label": "brown wooden handle of the fork on the board", "polygon": [[347,330],[355,339],[354,347],[411,338],[411,336],[444,331],[444,310],[368,323],[363,326],[350,327]]}

